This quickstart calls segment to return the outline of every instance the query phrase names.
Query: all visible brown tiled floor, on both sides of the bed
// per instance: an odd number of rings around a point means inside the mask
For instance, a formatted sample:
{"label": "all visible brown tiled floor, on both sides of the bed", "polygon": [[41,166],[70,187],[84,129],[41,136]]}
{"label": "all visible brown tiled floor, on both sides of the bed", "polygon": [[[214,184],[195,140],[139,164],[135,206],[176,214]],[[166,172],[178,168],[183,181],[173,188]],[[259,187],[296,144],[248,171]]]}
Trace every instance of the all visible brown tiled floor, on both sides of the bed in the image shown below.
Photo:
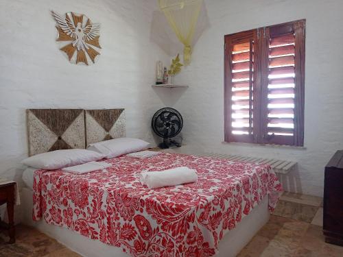
{"label": "all visible brown tiled floor, on both sides of the bed", "polygon": [[[343,256],[343,247],[324,243],[322,198],[284,193],[270,221],[252,238],[239,257],[330,257]],[[4,245],[0,234],[0,257],[80,256],[53,238],[19,225],[16,243]]]}

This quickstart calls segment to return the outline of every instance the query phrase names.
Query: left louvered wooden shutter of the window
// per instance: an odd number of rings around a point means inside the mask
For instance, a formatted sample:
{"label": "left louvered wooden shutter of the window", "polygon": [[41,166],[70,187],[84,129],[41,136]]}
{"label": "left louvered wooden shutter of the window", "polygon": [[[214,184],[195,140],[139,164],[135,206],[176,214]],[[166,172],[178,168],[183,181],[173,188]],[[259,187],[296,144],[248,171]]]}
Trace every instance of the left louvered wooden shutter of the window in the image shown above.
{"label": "left louvered wooden shutter of the window", "polygon": [[257,31],[225,36],[225,140],[254,142]]}

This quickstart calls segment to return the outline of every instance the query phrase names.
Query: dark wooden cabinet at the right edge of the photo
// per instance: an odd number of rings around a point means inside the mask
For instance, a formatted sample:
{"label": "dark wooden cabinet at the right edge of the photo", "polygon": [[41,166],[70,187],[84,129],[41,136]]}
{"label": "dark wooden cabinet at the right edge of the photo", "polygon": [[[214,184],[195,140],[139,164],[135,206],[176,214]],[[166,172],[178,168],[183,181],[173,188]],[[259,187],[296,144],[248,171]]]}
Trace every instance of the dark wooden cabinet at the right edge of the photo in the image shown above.
{"label": "dark wooden cabinet at the right edge of the photo", "polygon": [[325,167],[323,233],[325,242],[343,246],[343,150]]}

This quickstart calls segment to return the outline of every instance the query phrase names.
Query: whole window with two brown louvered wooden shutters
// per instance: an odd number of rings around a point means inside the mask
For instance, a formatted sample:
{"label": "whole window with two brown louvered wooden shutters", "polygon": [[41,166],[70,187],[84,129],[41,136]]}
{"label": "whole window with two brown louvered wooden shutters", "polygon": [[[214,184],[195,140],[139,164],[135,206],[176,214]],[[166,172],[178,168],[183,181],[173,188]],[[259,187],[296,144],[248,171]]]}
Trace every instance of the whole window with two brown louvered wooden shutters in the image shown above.
{"label": "whole window with two brown louvered wooden shutters", "polygon": [[305,20],[225,36],[225,141],[304,144]]}

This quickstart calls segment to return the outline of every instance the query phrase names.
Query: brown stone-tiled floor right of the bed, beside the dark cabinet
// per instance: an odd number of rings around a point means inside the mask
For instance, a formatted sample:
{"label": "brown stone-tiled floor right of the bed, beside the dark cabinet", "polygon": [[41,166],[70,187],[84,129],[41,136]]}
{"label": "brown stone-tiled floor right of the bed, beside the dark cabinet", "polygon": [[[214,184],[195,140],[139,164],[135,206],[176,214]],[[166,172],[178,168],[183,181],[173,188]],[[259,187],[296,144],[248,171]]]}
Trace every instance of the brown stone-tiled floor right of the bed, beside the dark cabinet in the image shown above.
{"label": "brown stone-tiled floor right of the bed, beside the dark cabinet", "polygon": [[343,256],[343,247],[324,243],[322,198],[284,193],[270,221],[239,257]]}

